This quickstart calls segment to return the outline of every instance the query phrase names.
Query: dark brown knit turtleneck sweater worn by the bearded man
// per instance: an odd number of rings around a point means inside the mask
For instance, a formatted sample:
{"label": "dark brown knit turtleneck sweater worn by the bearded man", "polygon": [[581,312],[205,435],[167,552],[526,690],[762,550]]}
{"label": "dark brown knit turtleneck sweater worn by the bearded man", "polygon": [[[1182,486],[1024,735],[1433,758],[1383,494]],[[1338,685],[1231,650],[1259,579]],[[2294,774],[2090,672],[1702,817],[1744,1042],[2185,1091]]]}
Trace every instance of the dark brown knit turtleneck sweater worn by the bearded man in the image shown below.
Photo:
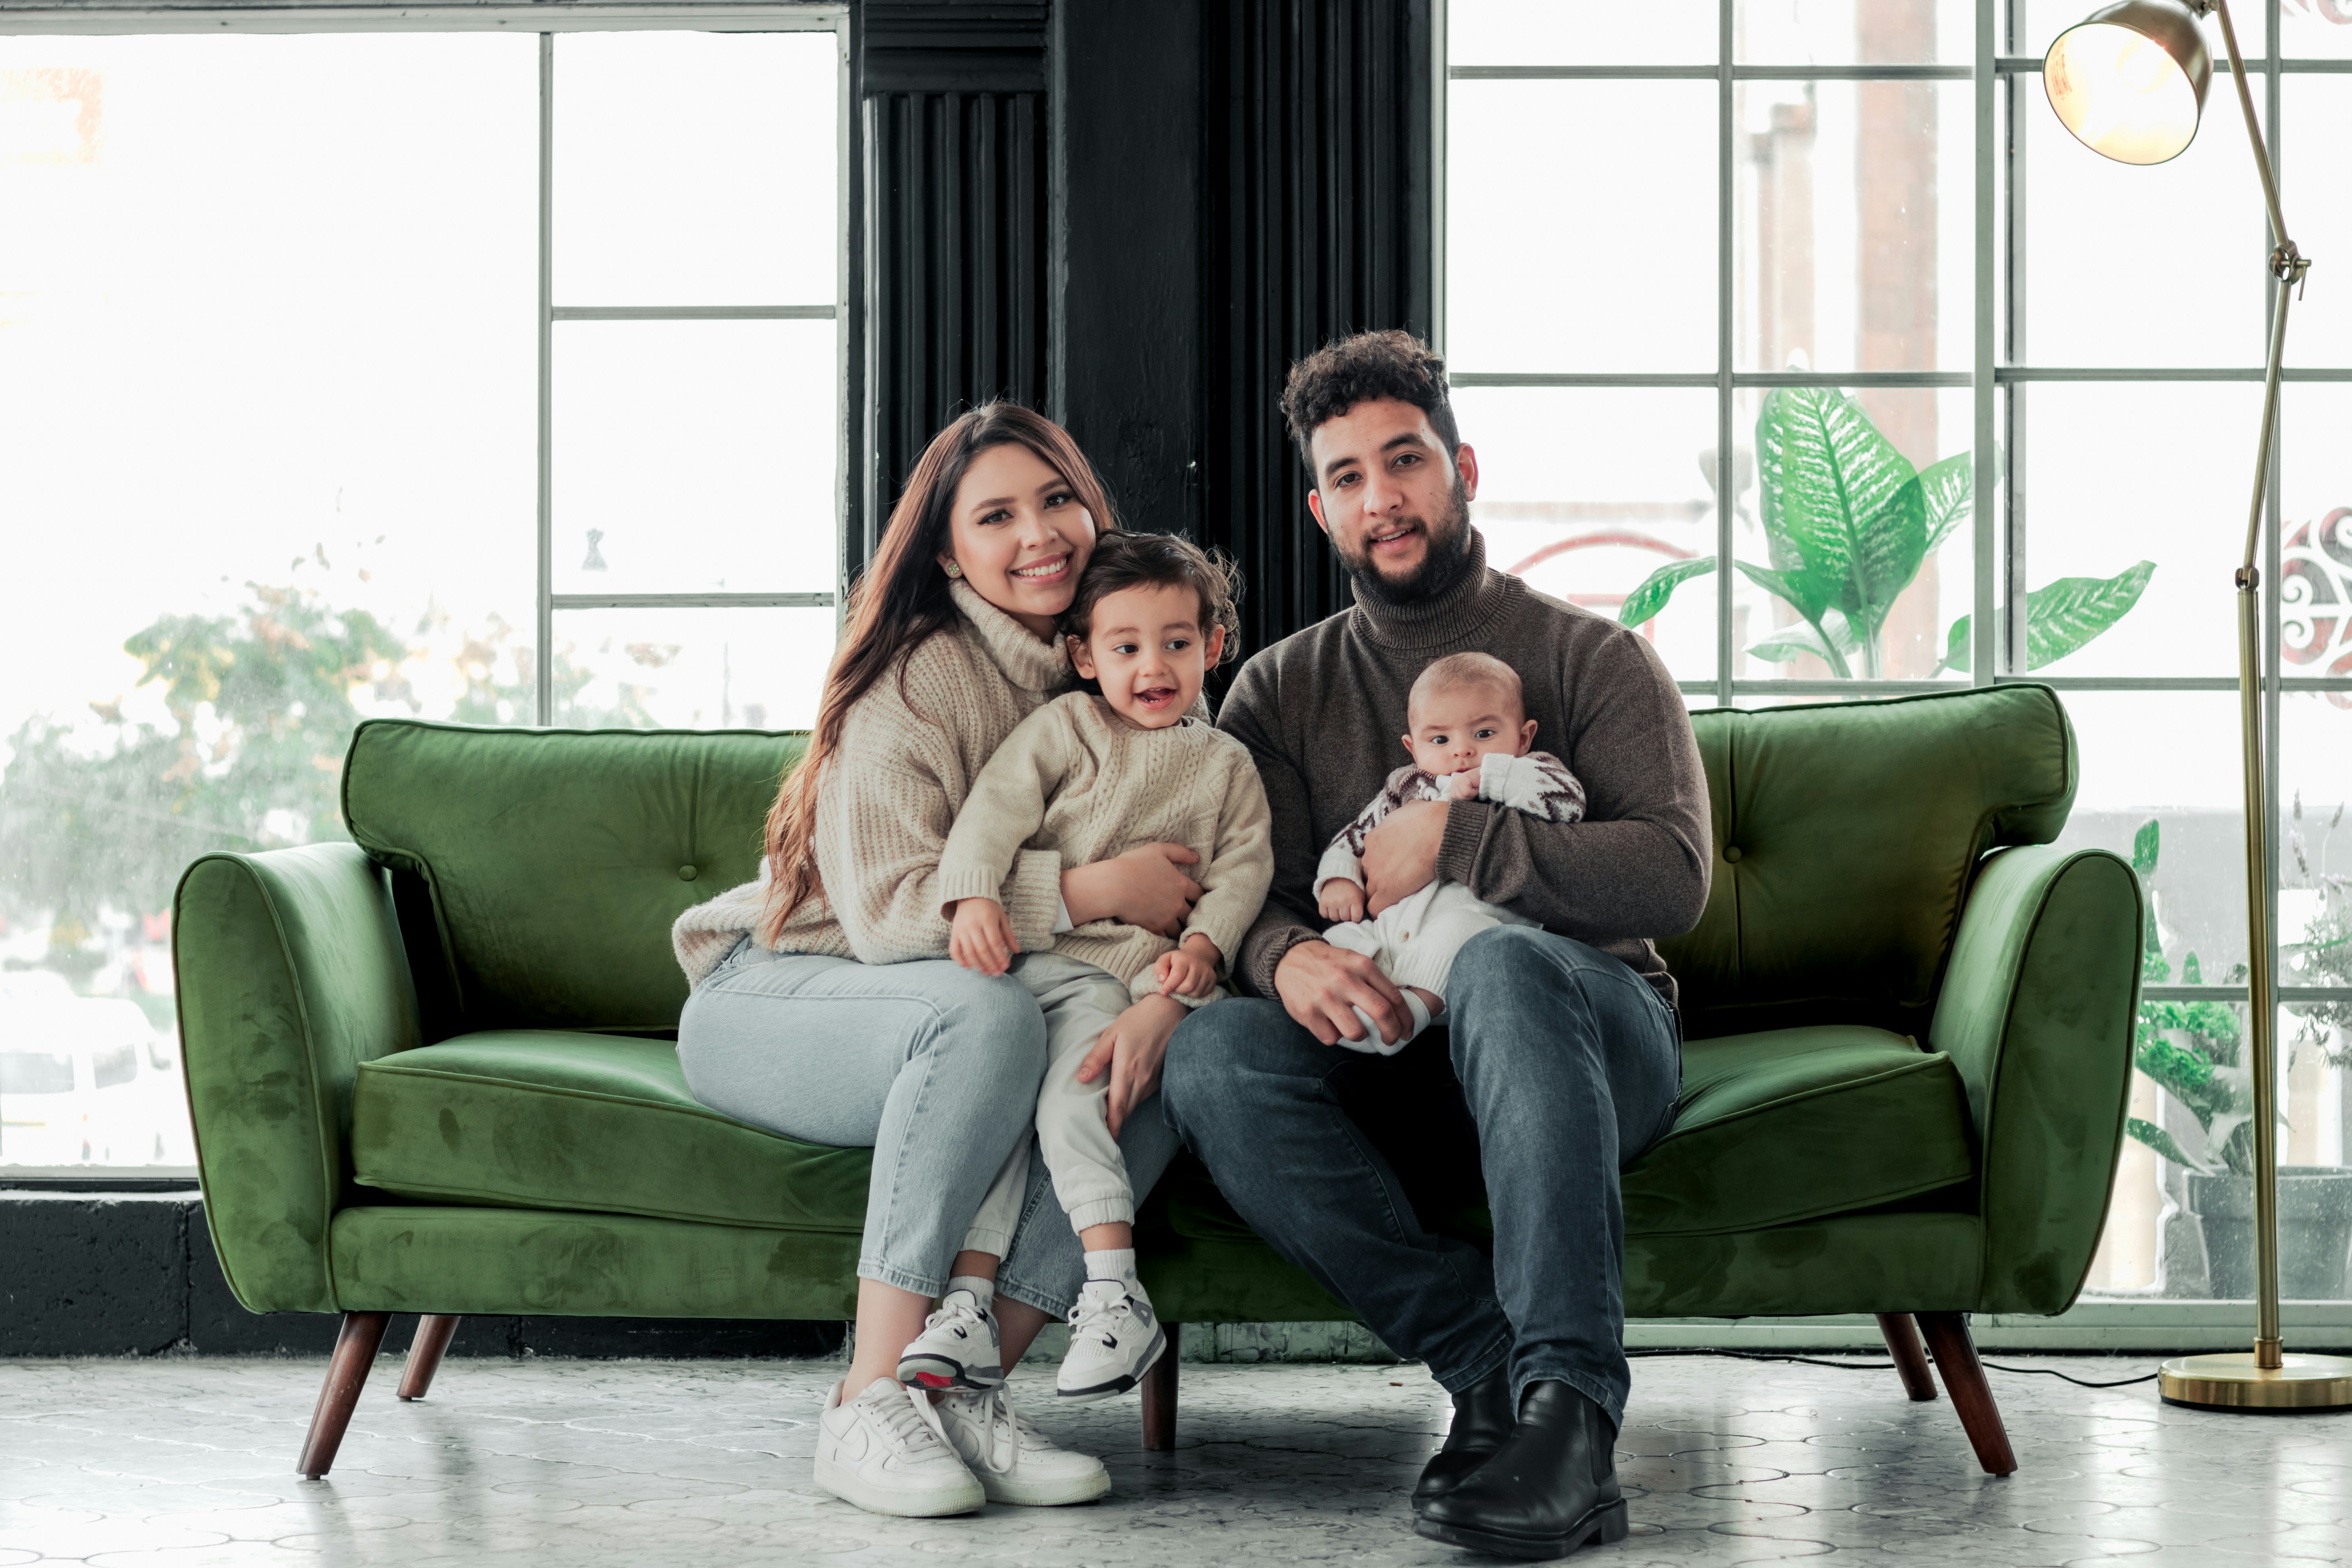
{"label": "dark brown knit turtleneck sweater worn by the bearded man", "polygon": [[1404,762],[1414,677],[1472,649],[1519,672],[1536,745],[1585,783],[1588,811],[1541,823],[1451,802],[1437,875],[1625,959],[1675,1001],[1649,938],[1698,924],[1715,856],[1689,710],[1646,637],[1489,569],[1475,529],[1451,588],[1399,607],[1357,595],[1242,665],[1225,696],[1218,726],[1256,757],[1275,820],[1275,886],[1235,961],[1261,997],[1284,952],[1322,938],[1315,860]]}

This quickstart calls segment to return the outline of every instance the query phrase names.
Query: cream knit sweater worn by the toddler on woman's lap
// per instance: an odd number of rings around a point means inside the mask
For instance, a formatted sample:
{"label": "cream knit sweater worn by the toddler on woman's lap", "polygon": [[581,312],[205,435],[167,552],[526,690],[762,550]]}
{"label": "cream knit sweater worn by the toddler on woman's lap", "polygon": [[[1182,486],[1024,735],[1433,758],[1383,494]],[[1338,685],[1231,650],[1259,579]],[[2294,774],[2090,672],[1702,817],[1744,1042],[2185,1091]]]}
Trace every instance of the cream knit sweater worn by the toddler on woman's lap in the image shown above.
{"label": "cream knit sweater worn by the toddler on woman's lap", "polygon": [[[1249,748],[1202,719],[1138,729],[1098,696],[1073,691],[1021,719],[981,769],[938,863],[938,896],[995,898],[1023,844],[1044,844],[1063,865],[1094,865],[1136,844],[1183,844],[1200,865],[1200,931],[1232,959],[1275,879],[1265,785]],[[1018,919],[1014,931],[1021,931]],[[1174,938],[1094,919],[1051,938],[1054,952],[1105,969],[1136,997],[1157,992],[1152,961]],[[1028,936],[1021,950],[1035,952]]]}

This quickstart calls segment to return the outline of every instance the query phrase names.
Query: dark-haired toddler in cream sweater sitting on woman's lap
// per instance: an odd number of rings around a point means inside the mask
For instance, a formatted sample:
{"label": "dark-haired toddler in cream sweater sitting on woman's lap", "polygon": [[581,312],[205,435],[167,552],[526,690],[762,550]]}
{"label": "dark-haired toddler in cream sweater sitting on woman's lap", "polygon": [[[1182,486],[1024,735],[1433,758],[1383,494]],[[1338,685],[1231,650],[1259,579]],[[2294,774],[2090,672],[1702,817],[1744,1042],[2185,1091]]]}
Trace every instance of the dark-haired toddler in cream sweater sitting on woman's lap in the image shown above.
{"label": "dark-haired toddler in cream sweater sitting on woman's lap", "polygon": [[[1011,971],[1044,1006],[1037,1147],[1087,1248],[1070,1352],[1054,1380],[1056,1396],[1070,1403],[1131,1389],[1167,1349],[1136,1279],[1136,1194],[1105,1107],[1124,1070],[1087,1084],[1077,1079],[1080,1060],[1112,1030],[1160,1030],[1164,1039],[1160,997],[1209,1001],[1275,875],[1258,769],[1240,741],[1195,712],[1232,623],[1232,581],[1195,545],[1157,534],[1098,538],[1063,630],[1070,663],[1101,684],[1101,696],[1056,698],[1004,738],[938,863],[953,926],[948,957],[985,976]],[[1202,896],[1181,940],[1098,919],[1056,933],[1049,952],[1016,954],[997,889],[1018,851],[1056,851],[1068,867],[1155,842],[1200,856],[1192,879]],[[1007,1161],[971,1229],[1009,1237],[1025,1192],[1028,1145]],[[969,1300],[957,1300],[962,1293]],[[950,1279],[898,1378],[924,1387],[1002,1380],[993,1295],[976,1276]]]}

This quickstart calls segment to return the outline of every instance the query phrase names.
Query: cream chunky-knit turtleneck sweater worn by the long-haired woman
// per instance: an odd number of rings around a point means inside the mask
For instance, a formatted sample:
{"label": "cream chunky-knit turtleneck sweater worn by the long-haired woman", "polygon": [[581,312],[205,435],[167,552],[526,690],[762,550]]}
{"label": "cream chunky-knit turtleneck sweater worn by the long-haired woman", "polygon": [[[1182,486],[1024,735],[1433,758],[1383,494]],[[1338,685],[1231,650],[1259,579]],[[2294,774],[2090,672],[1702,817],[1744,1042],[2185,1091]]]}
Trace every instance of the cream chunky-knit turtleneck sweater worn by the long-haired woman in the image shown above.
{"label": "cream chunky-knit turtleneck sweater worn by the long-haired woman", "polygon": [[[981,766],[1014,729],[1070,684],[1070,656],[1040,642],[969,583],[948,583],[960,618],[858,698],[816,792],[823,884],[783,926],[776,952],[828,952],[861,964],[948,954],[938,858]],[[1054,945],[1061,856],[1021,851],[993,896],[1023,952]],[[760,926],[757,882],[699,903],[670,926],[670,947],[701,985]],[[757,938],[755,938],[757,940]],[[1240,940],[1240,938],[1235,938]]]}

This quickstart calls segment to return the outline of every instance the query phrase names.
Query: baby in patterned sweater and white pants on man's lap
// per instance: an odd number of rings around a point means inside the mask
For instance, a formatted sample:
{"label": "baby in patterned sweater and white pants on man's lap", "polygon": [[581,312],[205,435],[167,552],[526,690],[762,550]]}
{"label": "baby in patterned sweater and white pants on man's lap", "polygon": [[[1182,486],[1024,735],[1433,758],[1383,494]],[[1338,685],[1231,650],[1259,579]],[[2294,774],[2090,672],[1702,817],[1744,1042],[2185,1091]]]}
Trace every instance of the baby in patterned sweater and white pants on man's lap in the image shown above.
{"label": "baby in patterned sweater and white pants on man's lap", "polygon": [[1383,1039],[1364,1009],[1364,1039],[1341,1039],[1357,1051],[1395,1056],[1404,1041],[1430,1027],[1446,1009],[1446,976],[1454,954],[1491,926],[1531,926],[1536,922],[1501,905],[1479,900],[1461,882],[1430,882],[1402,903],[1364,919],[1364,837],[1390,811],[1416,799],[1484,799],[1548,823],[1576,823],[1585,816],[1585,788],[1550,752],[1529,750],[1536,722],[1526,717],[1519,675],[1489,654],[1449,654],[1439,658],[1406,696],[1404,750],[1409,766],[1388,776],[1388,785],[1348,823],[1315,867],[1315,903],[1324,919],[1341,924],[1324,931],[1334,947],[1362,952],[1381,964],[1381,973],[1404,990],[1414,1027],[1399,1039]]}

